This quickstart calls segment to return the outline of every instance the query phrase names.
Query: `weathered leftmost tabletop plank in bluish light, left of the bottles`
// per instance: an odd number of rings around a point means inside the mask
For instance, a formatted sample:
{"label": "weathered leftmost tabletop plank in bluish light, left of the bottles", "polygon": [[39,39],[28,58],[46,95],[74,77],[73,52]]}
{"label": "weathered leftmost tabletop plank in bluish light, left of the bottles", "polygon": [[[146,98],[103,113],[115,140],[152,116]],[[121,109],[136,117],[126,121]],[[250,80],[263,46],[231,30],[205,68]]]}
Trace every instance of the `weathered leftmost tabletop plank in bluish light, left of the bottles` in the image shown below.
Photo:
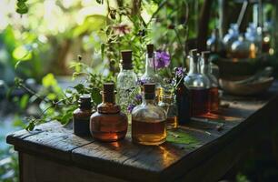
{"label": "weathered leftmost tabletop plank in bluish light, left of the bottles", "polygon": [[26,153],[46,156],[63,161],[71,161],[71,151],[92,143],[91,137],[80,137],[73,134],[72,127],[55,124],[54,127],[35,135],[25,136],[16,143],[16,149]]}

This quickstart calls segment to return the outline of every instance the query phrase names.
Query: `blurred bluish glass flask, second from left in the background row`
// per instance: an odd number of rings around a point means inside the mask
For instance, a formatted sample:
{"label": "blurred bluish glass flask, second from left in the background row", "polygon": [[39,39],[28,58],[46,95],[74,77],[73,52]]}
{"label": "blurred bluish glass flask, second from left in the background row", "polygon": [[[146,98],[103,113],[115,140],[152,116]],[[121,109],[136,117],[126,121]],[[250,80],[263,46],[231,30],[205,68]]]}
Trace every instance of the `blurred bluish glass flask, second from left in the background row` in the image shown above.
{"label": "blurred bluish glass flask, second from left in the background row", "polygon": [[233,42],[238,39],[239,36],[239,27],[236,24],[231,24],[228,34],[223,37],[223,45],[230,56],[230,52],[232,50]]}

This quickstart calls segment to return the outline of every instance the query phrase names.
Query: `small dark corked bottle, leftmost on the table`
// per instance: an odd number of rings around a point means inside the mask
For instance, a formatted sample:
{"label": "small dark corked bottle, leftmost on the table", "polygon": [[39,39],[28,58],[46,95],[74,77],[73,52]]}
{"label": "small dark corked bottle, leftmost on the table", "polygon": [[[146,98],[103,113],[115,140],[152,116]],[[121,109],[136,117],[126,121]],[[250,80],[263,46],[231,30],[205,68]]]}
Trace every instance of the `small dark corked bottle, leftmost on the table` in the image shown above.
{"label": "small dark corked bottle, leftmost on the table", "polygon": [[76,136],[90,136],[90,116],[94,113],[92,110],[91,96],[80,96],[78,106],[74,110],[74,134]]}

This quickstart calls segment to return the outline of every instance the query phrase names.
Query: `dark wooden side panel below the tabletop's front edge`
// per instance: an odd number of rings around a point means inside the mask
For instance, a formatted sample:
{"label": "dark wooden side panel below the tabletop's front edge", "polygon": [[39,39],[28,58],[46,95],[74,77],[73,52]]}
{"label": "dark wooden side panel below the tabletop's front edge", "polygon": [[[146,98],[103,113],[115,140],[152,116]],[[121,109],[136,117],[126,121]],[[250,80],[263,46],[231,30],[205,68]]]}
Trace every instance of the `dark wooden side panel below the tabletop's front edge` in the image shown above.
{"label": "dark wooden side panel below the tabletop's front edge", "polygon": [[21,182],[124,182],[122,179],[107,177],[79,167],[66,166],[42,157],[22,154]]}

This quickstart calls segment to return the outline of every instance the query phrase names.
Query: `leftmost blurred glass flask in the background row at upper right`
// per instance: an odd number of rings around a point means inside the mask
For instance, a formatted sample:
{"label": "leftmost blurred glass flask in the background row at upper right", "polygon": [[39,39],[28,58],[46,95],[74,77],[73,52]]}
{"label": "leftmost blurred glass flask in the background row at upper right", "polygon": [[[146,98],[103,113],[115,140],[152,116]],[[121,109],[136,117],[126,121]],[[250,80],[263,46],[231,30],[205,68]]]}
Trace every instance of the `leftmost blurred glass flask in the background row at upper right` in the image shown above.
{"label": "leftmost blurred glass flask in the background row at upper right", "polygon": [[213,29],[212,36],[206,41],[207,49],[212,53],[223,53],[223,43],[219,37],[219,29]]}

